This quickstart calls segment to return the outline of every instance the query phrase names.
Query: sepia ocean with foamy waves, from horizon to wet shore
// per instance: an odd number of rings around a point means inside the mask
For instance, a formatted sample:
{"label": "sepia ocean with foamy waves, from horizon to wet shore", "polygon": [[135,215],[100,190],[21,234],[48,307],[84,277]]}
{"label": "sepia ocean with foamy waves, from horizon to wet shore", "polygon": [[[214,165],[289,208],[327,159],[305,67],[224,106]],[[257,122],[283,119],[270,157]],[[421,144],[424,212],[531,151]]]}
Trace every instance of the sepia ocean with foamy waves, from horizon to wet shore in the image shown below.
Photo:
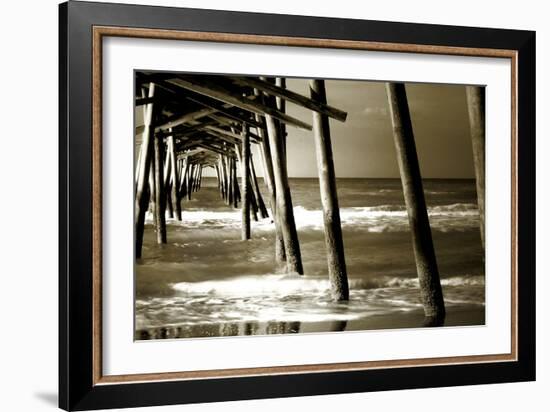
{"label": "sepia ocean with foamy waves, from horizon to wet shore", "polygon": [[[330,300],[317,179],[291,178],[304,275],[274,261],[271,218],[240,240],[240,209],[214,178],[183,201],[156,244],[147,216],[135,265],[135,339],[206,338],[421,327],[423,309],[399,179],[337,179],[349,302]],[[267,202],[267,195],[260,185]],[[424,179],[447,318],[485,323],[484,253],[474,180]],[[269,206],[269,205],[268,205]]]}

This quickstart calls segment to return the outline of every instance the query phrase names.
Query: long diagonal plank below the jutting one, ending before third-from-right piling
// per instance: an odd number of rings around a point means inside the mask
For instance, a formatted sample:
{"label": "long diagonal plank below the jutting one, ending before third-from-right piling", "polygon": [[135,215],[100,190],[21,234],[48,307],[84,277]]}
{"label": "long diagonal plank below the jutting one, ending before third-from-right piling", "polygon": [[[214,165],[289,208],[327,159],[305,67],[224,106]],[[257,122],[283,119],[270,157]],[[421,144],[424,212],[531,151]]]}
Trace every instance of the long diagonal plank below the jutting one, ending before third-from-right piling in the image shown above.
{"label": "long diagonal plank below the jutting one, ending before third-from-right piling", "polygon": [[291,126],[306,130],[312,129],[311,125],[302,122],[299,119],[281,113],[277,109],[263,105],[258,101],[250,100],[246,96],[239,96],[237,94],[234,94],[223,86],[220,86],[204,78],[198,79],[196,76],[179,76],[177,79],[167,80],[167,82],[188,90],[195,91],[200,94],[204,94],[205,96],[211,97],[213,99],[221,100],[225,103],[240,107],[253,113],[270,115],[275,119]]}

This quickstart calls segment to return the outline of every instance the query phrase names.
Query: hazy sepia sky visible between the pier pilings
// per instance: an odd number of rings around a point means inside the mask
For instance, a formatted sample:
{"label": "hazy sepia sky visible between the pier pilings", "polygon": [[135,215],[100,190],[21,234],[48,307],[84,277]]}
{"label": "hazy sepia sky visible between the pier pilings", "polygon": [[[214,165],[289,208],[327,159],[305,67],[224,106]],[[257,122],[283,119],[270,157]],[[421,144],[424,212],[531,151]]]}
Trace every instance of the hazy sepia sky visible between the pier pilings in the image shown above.
{"label": "hazy sepia sky visible between the pier pilings", "polygon": [[[308,80],[288,79],[287,87],[309,96]],[[348,113],[330,120],[337,177],[399,177],[384,83],[327,80],[327,100]],[[407,84],[417,152],[425,178],[474,178],[464,86]],[[142,123],[141,108],[136,122]],[[312,123],[311,111],[287,103],[287,113]],[[316,177],[313,132],[287,127],[288,174]],[[256,146],[256,145],[253,145]],[[263,175],[253,147],[258,175]],[[213,176],[213,170],[206,175]]]}

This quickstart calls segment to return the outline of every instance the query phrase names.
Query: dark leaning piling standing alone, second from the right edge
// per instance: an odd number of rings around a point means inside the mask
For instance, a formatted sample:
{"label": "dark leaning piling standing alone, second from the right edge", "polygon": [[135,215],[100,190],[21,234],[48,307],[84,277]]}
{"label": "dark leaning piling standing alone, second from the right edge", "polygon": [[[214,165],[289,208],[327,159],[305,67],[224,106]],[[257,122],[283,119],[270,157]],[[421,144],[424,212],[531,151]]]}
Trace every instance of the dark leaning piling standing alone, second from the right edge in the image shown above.
{"label": "dark leaning piling standing alone, second from the right edge", "polygon": [[424,324],[441,326],[445,322],[445,303],[426,210],[405,85],[386,83],[386,92],[403,194],[409,216],[420,295],[424,305]]}

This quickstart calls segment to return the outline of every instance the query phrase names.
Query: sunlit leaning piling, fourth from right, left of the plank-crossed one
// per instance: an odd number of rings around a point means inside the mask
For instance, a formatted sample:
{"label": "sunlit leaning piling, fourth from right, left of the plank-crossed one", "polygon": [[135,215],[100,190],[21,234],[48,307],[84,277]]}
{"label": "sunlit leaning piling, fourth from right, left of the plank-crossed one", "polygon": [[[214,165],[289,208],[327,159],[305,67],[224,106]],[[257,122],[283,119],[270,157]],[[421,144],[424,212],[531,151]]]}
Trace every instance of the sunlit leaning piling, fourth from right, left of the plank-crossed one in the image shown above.
{"label": "sunlit leaning piling, fourth from right, left of the plank-crossed one", "polygon": [[271,116],[266,116],[267,134],[271,149],[271,161],[273,163],[273,176],[275,180],[275,202],[277,204],[277,218],[281,226],[285,246],[287,271],[302,275],[302,256],[294,211],[292,209],[292,198],[288,187],[288,174],[284,160],[284,149],[280,135],[278,122]]}

